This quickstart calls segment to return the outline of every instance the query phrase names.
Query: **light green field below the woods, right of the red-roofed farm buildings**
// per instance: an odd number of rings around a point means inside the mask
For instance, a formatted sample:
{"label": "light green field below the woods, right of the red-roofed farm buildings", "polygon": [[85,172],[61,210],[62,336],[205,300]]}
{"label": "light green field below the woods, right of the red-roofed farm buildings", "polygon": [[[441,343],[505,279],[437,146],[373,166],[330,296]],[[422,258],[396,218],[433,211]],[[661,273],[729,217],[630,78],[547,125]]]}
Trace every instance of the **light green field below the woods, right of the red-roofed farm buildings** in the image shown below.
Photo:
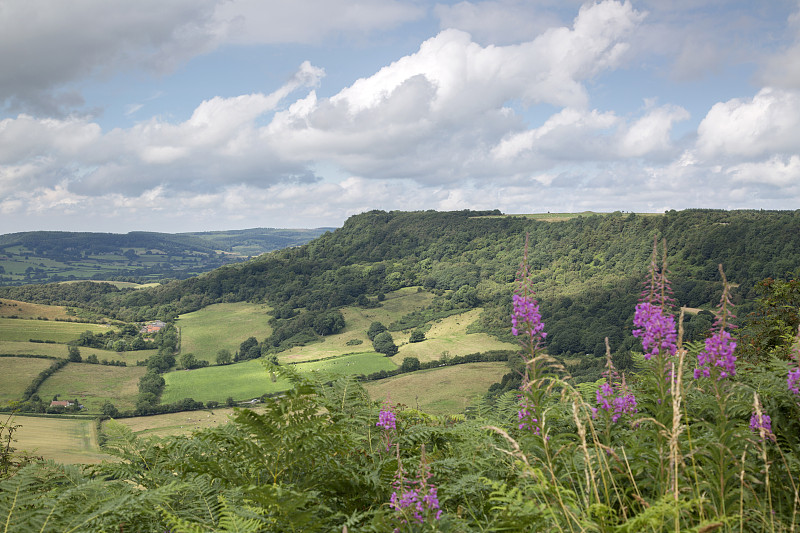
{"label": "light green field below the woods, right of the red-roofed farm buildings", "polygon": [[181,352],[193,353],[198,359],[214,364],[223,348],[235,353],[248,337],[263,341],[272,334],[267,324],[270,307],[245,302],[214,304],[193,313],[181,315],[177,326],[181,331]]}

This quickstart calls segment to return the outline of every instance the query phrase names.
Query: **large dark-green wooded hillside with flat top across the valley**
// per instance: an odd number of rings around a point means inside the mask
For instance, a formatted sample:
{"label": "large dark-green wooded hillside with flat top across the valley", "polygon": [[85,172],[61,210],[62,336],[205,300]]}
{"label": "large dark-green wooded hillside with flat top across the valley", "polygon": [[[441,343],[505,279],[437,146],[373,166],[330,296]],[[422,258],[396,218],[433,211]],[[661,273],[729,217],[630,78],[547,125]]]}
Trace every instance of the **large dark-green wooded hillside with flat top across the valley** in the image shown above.
{"label": "large dark-green wooded hillside with flat top across the valley", "polygon": [[[548,350],[590,361],[602,359],[606,336],[618,353],[634,345],[626,331],[654,237],[668,243],[672,286],[683,306],[714,308],[719,263],[737,284],[739,316],[757,296],[759,280],[800,274],[800,211],[692,209],[544,220],[496,211],[370,211],[303,246],[151,289],[23,286],[0,289],[0,297],[86,307],[123,320],[170,320],[213,303],[265,302],[275,310],[265,349],[281,350],[313,340],[341,306],[380,305],[382,293],[420,286],[435,294],[431,305],[387,324],[390,330],[481,308],[472,330],[512,340],[510,294],[526,235]],[[707,315],[698,317],[696,328],[687,318],[687,335],[707,331]]]}

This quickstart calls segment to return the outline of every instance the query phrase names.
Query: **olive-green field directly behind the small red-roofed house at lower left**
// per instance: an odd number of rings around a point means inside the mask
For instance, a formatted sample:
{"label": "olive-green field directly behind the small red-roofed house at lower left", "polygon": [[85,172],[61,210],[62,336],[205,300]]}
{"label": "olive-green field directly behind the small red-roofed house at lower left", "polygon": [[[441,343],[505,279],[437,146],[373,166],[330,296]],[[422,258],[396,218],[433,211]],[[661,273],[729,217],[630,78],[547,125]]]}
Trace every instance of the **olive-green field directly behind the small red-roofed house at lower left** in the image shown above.
{"label": "olive-green field directly behind the small red-roofed house at lower left", "polygon": [[38,394],[50,400],[58,394],[61,400],[77,399],[92,413],[100,412],[108,400],[120,411],[136,407],[139,378],[147,368],[69,363],[47,378]]}

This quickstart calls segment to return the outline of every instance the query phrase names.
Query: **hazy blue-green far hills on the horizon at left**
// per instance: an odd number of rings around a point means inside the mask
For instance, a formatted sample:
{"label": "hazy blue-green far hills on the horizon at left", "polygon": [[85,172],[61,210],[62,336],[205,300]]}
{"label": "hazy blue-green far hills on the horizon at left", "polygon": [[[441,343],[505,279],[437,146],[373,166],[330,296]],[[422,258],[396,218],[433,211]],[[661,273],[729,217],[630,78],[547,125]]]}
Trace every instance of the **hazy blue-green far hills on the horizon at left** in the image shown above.
{"label": "hazy blue-green far hills on the horizon at left", "polygon": [[156,233],[30,231],[0,235],[0,286],[70,280],[186,279],[335,228]]}

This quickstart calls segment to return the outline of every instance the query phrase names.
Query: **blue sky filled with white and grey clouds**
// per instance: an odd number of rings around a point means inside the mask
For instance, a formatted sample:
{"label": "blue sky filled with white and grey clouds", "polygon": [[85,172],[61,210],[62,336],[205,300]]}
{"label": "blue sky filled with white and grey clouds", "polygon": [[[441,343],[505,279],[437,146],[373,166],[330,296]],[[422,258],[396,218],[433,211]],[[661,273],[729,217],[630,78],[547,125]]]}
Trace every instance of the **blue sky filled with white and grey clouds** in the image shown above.
{"label": "blue sky filled with white and grey clouds", "polygon": [[0,234],[800,208],[798,0],[0,0]]}

